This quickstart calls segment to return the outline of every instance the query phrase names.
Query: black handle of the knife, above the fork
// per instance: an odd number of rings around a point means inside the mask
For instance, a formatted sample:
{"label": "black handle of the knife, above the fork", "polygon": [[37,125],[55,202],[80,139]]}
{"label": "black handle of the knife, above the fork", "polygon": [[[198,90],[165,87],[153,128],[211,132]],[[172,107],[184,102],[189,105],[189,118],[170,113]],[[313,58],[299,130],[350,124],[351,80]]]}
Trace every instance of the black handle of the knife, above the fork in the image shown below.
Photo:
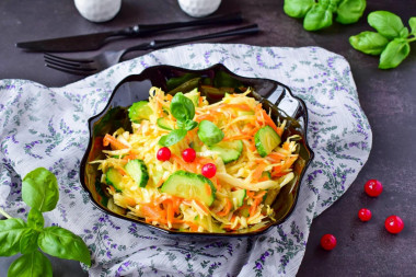
{"label": "black handle of the knife, above the fork", "polygon": [[127,27],[120,32],[117,32],[116,35],[127,35],[127,36],[138,36],[138,35],[149,35],[161,31],[181,28],[181,27],[190,27],[190,26],[203,26],[203,25],[222,25],[231,23],[241,23],[243,16],[241,12],[221,14],[217,16],[210,16],[207,19],[193,20],[187,22],[172,22],[163,24],[139,24],[131,27]]}

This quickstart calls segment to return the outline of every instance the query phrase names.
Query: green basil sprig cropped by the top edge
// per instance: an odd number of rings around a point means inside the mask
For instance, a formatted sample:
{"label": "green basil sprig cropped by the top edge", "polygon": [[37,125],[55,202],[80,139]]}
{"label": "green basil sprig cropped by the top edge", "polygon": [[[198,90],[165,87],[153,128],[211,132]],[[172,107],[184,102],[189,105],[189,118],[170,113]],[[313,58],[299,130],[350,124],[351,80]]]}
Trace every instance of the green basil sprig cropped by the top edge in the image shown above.
{"label": "green basil sprig cropped by the top edge", "polygon": [[342,24],[356,23],[366,5],[366,0],[285,0],[284,11],[291,18],[304,18],[304,30],[317,31],[332,25],[333,13]]}

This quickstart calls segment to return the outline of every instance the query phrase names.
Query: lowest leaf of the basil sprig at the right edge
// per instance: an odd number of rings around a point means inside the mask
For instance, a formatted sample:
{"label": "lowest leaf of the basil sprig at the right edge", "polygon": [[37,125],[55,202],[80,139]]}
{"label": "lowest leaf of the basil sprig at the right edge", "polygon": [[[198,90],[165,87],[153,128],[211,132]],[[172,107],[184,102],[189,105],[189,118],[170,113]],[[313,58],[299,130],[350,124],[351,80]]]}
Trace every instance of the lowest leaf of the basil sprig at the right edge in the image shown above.
{"label": "lowest leaf of the basil sprig at the right edge", "polygon": [[411,45],[404,38],[394,38],[381,53],[379,68],[397,67],[411,53]]}

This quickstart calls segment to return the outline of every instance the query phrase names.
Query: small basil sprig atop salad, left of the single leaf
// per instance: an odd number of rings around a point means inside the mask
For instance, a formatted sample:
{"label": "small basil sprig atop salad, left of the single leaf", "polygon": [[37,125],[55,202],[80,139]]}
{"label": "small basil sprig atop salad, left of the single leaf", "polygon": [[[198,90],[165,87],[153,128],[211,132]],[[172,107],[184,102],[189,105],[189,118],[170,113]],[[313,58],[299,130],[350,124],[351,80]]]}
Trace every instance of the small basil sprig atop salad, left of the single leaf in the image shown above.
{"label": "small basil sprig atop salad, left of the single leaf", "polygon": [[193,120],[195,116],[194,102],[182,92],[173,96],[170,111],[173,117],[176,118],[178,129],[174,129],[159,139],[159,145],[162,147],[170,147],[180,142],[186,137],[187,131],[198,126],[198,123]]}

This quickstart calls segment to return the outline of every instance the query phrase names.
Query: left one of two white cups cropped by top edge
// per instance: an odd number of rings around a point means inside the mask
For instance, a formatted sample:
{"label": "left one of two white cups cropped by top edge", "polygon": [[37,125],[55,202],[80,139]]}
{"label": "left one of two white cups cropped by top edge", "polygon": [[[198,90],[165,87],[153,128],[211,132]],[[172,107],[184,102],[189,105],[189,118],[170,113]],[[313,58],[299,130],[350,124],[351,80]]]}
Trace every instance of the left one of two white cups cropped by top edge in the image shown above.
{"label": "left one of two white cups cropped by top edge", "polygon": [[112,20],[122,7],[122,0],[74,0],[81,15],[92,22]]}

